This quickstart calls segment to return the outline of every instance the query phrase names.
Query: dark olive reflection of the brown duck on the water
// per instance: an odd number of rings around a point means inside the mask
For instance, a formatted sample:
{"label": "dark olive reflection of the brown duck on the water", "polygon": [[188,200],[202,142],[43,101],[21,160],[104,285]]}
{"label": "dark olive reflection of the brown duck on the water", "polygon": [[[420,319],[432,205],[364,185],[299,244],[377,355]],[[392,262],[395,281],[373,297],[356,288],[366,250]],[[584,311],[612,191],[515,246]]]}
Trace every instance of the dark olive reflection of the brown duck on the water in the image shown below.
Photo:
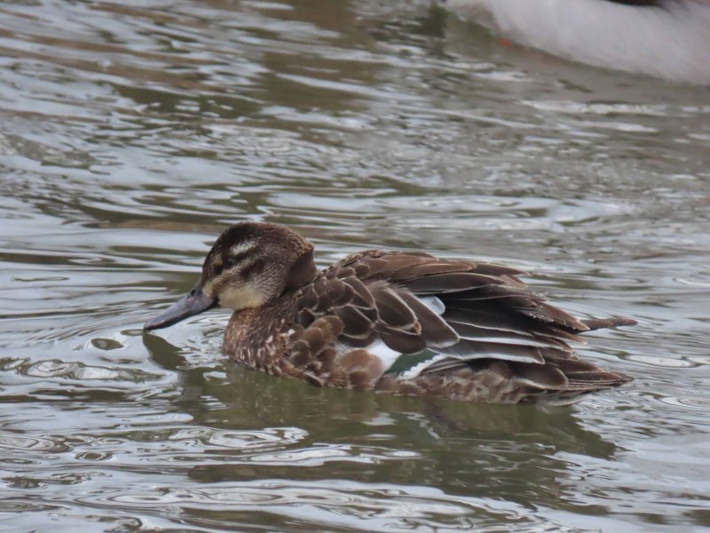
{"label": "dark olive reflection of the brown duck on the water", "polygon": [[216,446],[214,436],[201,451],[203,464],[187,471],[199,483],[338,479],[523,505],[534,495],[540,505],[559,508],[577,475],[568,457],[612,461],[617,452],[582,426],[573,407],[432,402],[318,388],[241,369],[226,358],[226,375],[210,378],[214,368],[190,368],[176,347],[154,335],[145,339],[154,361],[180,376],[183,394],[175,403],[194,426],[233,441],[241,433],[245,441],[255,432],[269,436],[264,445],[241,448],[228,440]]}

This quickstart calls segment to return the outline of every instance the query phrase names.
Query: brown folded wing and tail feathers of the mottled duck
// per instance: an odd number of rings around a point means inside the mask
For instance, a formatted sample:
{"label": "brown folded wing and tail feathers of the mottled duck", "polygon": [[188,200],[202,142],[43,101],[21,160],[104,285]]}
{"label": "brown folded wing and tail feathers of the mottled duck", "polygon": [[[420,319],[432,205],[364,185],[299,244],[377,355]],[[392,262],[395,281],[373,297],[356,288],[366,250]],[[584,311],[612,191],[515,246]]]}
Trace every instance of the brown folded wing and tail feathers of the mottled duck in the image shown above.
{"label": "brown folded wing and tail feathers of the mottled duck", "polygon": [[[383,371],[405,369],[399,376],[407,378],[483,369],[498,361],[508,365],[512,379],[540,390],[586,391],[628,379],[580,362],[567,343],[582,331],[635,321],[580,321],[525,290],[517,274],[523,273],[424,253],[355,254],[302,290],[297,313],[306,330],[294,356],[301,357],[304,346],[324,353],[330,336],[308,326],[331,315],[343,324],[338,342],[358,348],[343,360],[353,382],[372,382],[380,368],[364,363],[368,346],[387,352],[384,358],[377,350],[367,352],[383,362]],[[401,364],[396,353],[403,354]],[[413,359],[406,363],[404,358]]]}

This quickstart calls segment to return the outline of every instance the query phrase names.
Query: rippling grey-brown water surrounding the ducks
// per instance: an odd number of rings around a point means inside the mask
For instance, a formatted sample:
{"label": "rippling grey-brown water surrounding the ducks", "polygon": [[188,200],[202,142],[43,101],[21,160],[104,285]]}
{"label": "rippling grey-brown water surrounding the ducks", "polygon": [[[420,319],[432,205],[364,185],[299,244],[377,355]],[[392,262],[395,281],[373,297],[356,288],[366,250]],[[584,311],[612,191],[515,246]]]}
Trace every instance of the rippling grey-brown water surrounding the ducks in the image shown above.
{"label": "rippling grey-brown water surrounding the ducks", "polygon": [[[710,529],[710,92],[428,2],[0,6],[0,529]],[[635,377],[572,408],[320,390],[144,335],[229,223],[523,267]],[[593,337],[593,338],[592,338]]]}

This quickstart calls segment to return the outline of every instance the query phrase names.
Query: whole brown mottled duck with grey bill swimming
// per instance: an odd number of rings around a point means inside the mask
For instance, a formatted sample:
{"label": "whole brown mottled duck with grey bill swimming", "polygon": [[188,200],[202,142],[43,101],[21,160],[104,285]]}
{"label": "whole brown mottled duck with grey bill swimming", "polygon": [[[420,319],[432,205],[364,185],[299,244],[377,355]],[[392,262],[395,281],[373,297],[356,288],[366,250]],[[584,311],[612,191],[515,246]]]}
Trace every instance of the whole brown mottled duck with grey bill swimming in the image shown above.
{"label": "whole brown mottled duck with grey bill swimming", "polygon": [[575,318],[528,290],[521,270],[383,250],[319,270],[313,250],[289,227],[238,222],[193,289],[144,330],[226,307],[223,351],[241,366],[356,391],[566,404],[631,379],[570,343],[634,320]]}

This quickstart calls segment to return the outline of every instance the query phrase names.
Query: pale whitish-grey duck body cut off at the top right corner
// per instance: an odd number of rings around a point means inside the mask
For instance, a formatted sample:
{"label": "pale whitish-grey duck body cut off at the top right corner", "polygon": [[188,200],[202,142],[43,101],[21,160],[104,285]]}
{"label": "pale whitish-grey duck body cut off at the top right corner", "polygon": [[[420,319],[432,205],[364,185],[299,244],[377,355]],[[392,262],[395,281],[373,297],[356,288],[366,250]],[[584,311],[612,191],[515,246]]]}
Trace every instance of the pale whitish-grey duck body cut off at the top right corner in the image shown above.
{"label": "pale whitish-grey duck body cut off at the top right corner", "polygon": [[602,68],[710,85],[708,0],[443,0],[510,41]]}

